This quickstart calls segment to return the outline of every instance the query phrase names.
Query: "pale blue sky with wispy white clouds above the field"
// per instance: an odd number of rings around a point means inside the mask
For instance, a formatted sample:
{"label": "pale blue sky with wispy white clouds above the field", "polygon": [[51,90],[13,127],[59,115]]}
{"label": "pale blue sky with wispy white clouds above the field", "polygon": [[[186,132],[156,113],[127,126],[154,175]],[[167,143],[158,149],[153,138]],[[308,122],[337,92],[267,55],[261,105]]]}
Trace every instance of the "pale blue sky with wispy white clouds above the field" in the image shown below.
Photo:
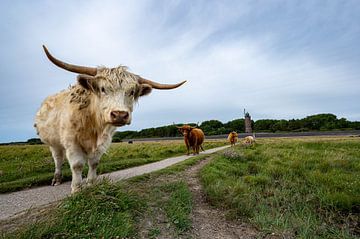
{"label": "pale blue sky with wispy white clouds above the field", "polygon": [[41,102],[76,83],[43,50],[85,66],[126,65],[161,83],[130,126],[360,120],[360,4],[330,1],[0,1],[0,142],[37,137]]}

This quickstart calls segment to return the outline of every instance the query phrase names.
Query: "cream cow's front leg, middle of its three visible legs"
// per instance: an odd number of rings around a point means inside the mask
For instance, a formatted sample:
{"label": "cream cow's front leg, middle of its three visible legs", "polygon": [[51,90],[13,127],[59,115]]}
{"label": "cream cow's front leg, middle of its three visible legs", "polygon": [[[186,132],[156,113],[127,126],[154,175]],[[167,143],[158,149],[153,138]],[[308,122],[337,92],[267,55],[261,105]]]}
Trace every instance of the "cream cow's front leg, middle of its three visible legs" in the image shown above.
{"label": "cream cow's front leg, middle of its three visible legs", "polygon": [[75,193],[81,189],[81,173],[85,164],[85,155],[80,147],[72,146],[66,149],[66,157],[69,160],[72,173],[71,193]]}

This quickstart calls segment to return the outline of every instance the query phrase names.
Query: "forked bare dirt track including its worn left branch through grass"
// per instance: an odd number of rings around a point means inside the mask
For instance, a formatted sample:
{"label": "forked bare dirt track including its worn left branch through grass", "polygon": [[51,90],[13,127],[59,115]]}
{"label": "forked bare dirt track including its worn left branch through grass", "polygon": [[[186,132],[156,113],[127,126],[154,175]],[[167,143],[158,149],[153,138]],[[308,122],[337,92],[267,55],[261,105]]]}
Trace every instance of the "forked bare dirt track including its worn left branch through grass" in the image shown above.
{"label": "forked bare dirt track including its worn left branch through grass", "polygon": [[[179,181],[187,183],[193,198],[192,228],[183,233],[176,233],[176,229],[166,217],[159,205],[152,204],[149,211],[143,216],[139,225],[140,238],[156,239],[252,239],[259,233],[251,225],[238,221],[228,221],[225,212],[209,205],[199,180],[199,171],[212,160],[209,156],[185,171],[162,175],[145,183],[143,187],[156,188],[159,185],[171,184]],[[156,201],[156,200],[154,200]],[[156,228],[158,234],[149,237],[149,231]]]}

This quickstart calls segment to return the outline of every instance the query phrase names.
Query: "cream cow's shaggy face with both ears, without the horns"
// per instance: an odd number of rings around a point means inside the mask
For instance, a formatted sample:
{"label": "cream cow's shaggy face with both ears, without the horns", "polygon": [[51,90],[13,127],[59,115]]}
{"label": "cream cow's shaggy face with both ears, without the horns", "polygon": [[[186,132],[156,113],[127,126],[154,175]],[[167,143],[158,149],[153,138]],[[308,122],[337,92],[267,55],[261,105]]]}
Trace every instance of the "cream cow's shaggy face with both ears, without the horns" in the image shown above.
{"label": "cream cow's shaggy face with both ears, without the horns", "polygon": [[148,84],[140,84],[137,80],[114,76],[79,75],[79,84],[93,94],[93,107],[101,114],[101,118],[113,126],[131,123],[133,105],[140,96],[151,92]]}

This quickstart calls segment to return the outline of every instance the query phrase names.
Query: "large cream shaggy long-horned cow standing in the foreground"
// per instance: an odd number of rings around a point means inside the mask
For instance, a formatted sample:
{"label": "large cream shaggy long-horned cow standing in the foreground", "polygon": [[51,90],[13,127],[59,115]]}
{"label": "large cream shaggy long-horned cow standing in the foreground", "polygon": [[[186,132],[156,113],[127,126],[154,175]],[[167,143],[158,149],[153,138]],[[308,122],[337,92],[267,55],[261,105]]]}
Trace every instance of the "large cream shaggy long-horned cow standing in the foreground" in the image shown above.
{"label": "large cream shaggy long-horned cow standing in the foreground", "polygon": [[50,146],[55,161],[52,185],[61,183],[65,157],[71,172],[71,192],[81,188],[82,170],[87,161],[87,182],[96,179],[101,155],[108,149],[116,127],[131,123],[133,104],[154,89],[174,89],[185,81],[164,85],[115,68],[84,67],[62,62],[43,46],[49,60],[60,68],[78,73],[77,84],[47,97],[35,117],[41,140]]}

